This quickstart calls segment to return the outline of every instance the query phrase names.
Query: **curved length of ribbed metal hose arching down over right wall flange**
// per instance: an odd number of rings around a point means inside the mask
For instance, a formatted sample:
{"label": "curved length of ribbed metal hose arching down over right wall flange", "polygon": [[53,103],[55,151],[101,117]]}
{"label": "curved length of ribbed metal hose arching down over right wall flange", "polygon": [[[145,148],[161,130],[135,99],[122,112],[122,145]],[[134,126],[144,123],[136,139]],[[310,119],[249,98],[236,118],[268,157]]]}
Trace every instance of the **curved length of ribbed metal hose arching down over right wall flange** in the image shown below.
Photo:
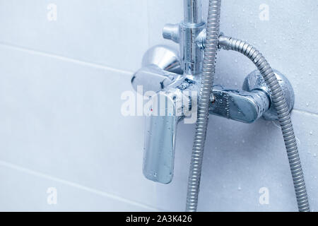
{"label": "curved length of ribbed metal hose arching down over right wall flange", "polygon": [[300,163],[300,157],[298,154],[293,124],[290,119],[290,113],[288,111],[288,105],[286,103],[285,96],[283,95],[283,90],[278,83],[275,73],[273,73],[273,69],[271,69],[271,66],[263,57],[263,55],[245,41],[221,35],[219,38],[219,45],[220,47],[223,47],[223,49],[230,49],[240,52],[251,59],[271,89],[272,102],[278,114],[279,123],[281,124],[281,131],[285,141],[290,171],[293,176],[298,209],[300,212],[310,211],[305,179],[302,174],[302,165]]}

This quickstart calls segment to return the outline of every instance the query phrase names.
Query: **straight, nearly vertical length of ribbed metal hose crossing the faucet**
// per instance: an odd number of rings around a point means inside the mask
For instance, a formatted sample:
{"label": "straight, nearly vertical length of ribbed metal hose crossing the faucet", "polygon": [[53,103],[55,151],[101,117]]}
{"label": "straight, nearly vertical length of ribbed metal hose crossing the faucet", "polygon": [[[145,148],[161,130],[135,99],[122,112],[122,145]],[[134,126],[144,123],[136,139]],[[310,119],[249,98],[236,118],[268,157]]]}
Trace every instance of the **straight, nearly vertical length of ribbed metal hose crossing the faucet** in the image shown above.
{"label": "straight, nearly vertical length of ribbed metal hose crossing the faucet", "polygon": [[198,104],[196,133],[192,149],[192,160],[187,189],[186,211],[194,212],[198,206],[199,186],[208,124],[208,107],[210,105],[211,87],[216,68],[218,35],[220,32],[220,0],[210,0],[208,6],[208,23],[206,28],[206,49],[204,52],[204,69]]}

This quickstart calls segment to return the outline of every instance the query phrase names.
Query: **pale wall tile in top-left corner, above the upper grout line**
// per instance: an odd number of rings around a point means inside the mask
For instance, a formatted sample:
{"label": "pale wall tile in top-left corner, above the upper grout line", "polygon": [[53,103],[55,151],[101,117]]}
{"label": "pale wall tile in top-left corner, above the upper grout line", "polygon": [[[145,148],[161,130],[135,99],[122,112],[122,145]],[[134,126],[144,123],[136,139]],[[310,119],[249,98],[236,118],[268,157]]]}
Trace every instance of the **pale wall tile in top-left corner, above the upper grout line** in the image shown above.
{"label": "pale wall tile in top-left corner, above the upper grout line", "polygon": [[[57,6],[57,20],[47,6]],[[0,1],[0,42],[116,69],[138,69],[148,48],[146,0]]]}

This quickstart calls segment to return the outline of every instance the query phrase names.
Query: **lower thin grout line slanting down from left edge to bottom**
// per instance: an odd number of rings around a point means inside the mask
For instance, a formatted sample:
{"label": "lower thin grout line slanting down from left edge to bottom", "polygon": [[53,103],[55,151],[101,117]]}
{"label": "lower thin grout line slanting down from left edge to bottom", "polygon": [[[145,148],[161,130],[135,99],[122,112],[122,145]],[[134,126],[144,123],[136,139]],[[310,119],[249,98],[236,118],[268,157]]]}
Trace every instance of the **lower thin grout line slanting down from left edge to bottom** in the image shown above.
{"label": "lower thin grout line slanting down from left edge to bottom", "polygon": [[74,182],[69,182],[65,179],[60,179],[58,177],[53,177],[53,176],[50,176],[48,174],[44,174],[42,172],[36,172],[32,169],[27,169],[25,167],[20,167],[18,165],[14,165],[12,163],[9,163],[9,162],[5,162],[3,160],[0,160],[0,166],[3,166],[3,167],[8,167],[8,168],[11,168],[11,169],[15,169],[15,170],[18,170],[20,172],[24,172],[26,174],[32,174],[36,177],[41,177],[41,178],[44,178],[44,179],[49,179],[49,180],[52,180],[54,182],[59,182],[61,184],[66,184],[68,186],[72,186],[76,189],[81,189],[83,191],[88,191],[90,193],[93,193],[93,194],[97,194],[97,195],[100,195],[100,196],[103,196],[103,197],[107,197],[107,198],[112,198],[114,200],[117,200],[117,201],[122,201],[124,203],[129,203],[131,205],[134,205],[134,206],[139,206],[141,208],[146,208],[146,209],[150,209],[150,210],[154,210],[154,211],[162,211],[158,208],[155,208],[153,206],[148,206],[146,204],[143,204],[143,203],[139,203],[139,202],[136,202],[136,201],[131,201],[129,199],[126,199],[126,198],[122,198],[120,196],[117,196],[117,195],[113,195],[113,194],[108,194],[107,192],[104,192],[104,191],[99,191],[97,189],[92,189],[88,186],[83,186],[81,184],[76,184]]}

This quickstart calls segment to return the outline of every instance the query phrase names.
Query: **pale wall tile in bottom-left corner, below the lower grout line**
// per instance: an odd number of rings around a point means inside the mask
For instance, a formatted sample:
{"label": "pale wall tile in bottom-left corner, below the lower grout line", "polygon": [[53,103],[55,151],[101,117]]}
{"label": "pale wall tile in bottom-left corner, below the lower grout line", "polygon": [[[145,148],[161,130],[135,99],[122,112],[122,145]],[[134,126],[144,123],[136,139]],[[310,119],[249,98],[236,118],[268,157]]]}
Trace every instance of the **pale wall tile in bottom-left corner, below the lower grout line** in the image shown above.
{"label": "pale wall tile in bottom-left corner, below the lower grout line", "polygon": [[[0,211],[156,211],[141,203],[7,162],[0,162],[0,175],[1,181],[6,182],[0,186]],[[56,189],[56,203],[52,203],[49,189]]]}

